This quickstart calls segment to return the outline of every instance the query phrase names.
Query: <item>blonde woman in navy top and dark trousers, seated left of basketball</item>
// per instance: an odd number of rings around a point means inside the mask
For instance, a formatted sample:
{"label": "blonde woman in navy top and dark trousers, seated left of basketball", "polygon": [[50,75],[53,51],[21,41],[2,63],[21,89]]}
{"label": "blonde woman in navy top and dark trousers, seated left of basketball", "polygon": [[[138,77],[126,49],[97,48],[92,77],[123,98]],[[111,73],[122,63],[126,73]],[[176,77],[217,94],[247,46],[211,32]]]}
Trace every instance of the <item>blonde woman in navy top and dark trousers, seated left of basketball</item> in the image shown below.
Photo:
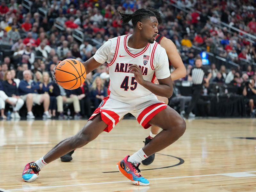
{"label": "blonde woman in navy top and dark trousers, seated left of basketball", "polygon": [[57,100],[56,96],[51,96],[53,92],[53,85],[50,82],[50,76],[48,72],[43,72],[42,85],[40,86],[40,94],[48,93],[50,95],[50,106],[49,106],[49,114],[52,118],[56,117],[56,109],[57,109]]}

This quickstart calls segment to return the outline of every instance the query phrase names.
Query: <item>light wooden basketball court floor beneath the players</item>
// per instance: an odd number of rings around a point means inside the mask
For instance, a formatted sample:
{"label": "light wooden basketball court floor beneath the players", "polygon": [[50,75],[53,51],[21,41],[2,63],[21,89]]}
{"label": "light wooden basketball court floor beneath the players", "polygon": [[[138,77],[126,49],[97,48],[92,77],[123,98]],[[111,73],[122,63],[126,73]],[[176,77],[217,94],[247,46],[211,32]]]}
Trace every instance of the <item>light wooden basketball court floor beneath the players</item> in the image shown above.
{"label": "light wooden basketball court floor beneath the players", "polygon": [[[116,163],[140,149],[148,136],[136,120],[124,119],[110,132],[73,154],[50,163],[32,183],[21,174],[86,120],[0,121],[0,191],[256,191],[256,119],[187,120],[185,134],[140,165],[149,186],[135,186]],[[238,138],[242,137],[242,138]],[[246,139],[251,137],[251,139]],[[253,138],[254,137],[254,138]]]}

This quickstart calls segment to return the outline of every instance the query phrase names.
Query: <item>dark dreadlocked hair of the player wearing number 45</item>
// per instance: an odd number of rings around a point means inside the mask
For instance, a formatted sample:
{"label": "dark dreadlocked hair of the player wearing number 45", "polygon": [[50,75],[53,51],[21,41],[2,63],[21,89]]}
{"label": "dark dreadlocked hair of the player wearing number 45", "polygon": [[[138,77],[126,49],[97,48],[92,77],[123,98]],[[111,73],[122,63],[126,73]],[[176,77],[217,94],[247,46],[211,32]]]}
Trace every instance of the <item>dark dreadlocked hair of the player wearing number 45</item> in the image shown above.
{"label": "dark dreadlocked hair of the player wearing number 45", "polygon": [[133,27],[136,27],[137,23],[144,19],[149,19],[150,17],[156,17],[155,13],[148,10],[148,9],[138,9],[137,11],[135,11],[132,14],[125,14],[125,13],[121,13],[119,11],[117,11],[120,15],[121,15],[121,21],[122,25],[125,23],[128,23],[130,20],[132,20],[132,25]]}

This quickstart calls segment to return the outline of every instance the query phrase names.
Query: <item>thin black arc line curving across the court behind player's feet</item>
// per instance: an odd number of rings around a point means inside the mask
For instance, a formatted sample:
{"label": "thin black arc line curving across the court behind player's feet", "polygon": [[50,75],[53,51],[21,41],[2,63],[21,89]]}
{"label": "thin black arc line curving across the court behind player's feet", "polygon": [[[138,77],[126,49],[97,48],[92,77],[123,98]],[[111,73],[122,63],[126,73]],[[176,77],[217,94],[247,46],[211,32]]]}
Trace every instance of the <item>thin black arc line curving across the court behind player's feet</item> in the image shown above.
{"label": "thin black arc line curving across the court behind player's feet", "polygon": [[[48,144],[47,144],[48,145]],[[50,147],[20,147],[20,149],[26,149],[26,148],[50,148]],[[16,149],[16,148],[4,148],[4,149]],[[116,150],[116,151],[132,151],[132,152],[136,152],[133,150],[126,150],[126,149],[108,149],[108,148],[80,148],[80,149],[107,149],[107,150]],[[165,168],[169,168],[169,167],[176,167],[178,165],[183,164],[185,161],[180,158],[180,157],[175,157],[172,155],[166,155],[166,154],[161,154],[161,153],[156,153],[157,155],[164,155],[164,156],[169,156],[169,157],[174,157],[176,159],[178,159],[180,162],[175,164],[175,165],[170,165],[170,166],[166,166],[166,167],[158,167],[158,168],[152,168],[152,169],[141,169],[141,171],[147,171],[147,170],[155,170],[155,169],[165,169]],[[102,173],[116,173],[119,171],[109,171],[109,172],[102,172]]]}

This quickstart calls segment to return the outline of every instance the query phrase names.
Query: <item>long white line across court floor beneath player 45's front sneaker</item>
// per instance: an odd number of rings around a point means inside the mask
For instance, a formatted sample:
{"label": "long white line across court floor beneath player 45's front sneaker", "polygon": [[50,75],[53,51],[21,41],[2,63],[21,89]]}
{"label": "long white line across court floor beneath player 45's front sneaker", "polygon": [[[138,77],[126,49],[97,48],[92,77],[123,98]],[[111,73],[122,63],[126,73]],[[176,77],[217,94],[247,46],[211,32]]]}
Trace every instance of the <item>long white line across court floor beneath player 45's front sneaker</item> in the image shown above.
{"label": "long white line across court floor beneath player 45's front sneaker", "polygon": [[[232,172],[232,173],[252,173],[252,172],[256,172],[256,171]],[[223,175],[223,174],[229,174],[229,173],[218,173],[218,174],[208,174],[208,175],[190,175],[190,176],[179,176],[179,177],[163,177],[163,178],[155,178],[155,179],[148,179],[148,180],[166,180],[166,179],[181,179],[181,178],[193,178],[193,177],[208,177],[208,176],[216,176],[216,175]],[[223,176],[226,176],[226,175],[223,175]],[[82,184],[73,184],[73,185],[56,185],[56,186],[42,186],[42,187],[31,187],[31,188],[16,188],[16,189],[8,189],[8,190],[9,191],[18,191],[18,190],[31,190],[31,189],[74,187],[74,186],[85,186],[85,185],[100,185],[100,184],[110,184],[110,183],[126,183],[126,182],[130,182],[130,181],[125,180],[125,181],[110,181],[110,182],[99,182],[99,183],[82,183]]]}

